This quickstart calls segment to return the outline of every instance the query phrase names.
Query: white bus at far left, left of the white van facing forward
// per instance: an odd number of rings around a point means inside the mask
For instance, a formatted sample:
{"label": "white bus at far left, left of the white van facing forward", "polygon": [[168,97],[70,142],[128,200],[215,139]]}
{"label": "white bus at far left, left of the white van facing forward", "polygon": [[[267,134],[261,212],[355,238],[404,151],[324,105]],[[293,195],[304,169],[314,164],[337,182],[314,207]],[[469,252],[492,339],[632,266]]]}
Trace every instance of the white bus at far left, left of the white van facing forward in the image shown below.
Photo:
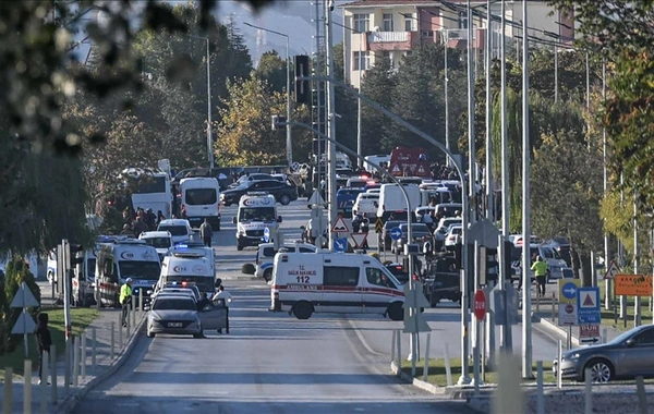
{"label": "white bus at far left, left of the white van facing forward", "polygon": [[134,209],[152,208],[155,215],[161,211],[167,219],[172,217],[172,187],[167,172],[131,168],[123,171],[123,175],[131,180],[130,194]]}

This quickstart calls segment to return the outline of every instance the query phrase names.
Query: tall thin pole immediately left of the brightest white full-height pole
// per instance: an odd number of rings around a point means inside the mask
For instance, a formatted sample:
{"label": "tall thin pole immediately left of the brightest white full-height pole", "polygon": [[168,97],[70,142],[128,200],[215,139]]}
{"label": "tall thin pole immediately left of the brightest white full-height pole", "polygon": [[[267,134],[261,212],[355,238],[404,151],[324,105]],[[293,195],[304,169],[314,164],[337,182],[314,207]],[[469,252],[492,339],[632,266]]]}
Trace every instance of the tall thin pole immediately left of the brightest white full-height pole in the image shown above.
{"label": "tall thin pole immediately left of the brightest white full-height pole", "polygon": [[[506,0],[501,0],[501,44],[500,44],[500,82],[501,82],[501,236],[502,242],[508,240],[509,238],[509,220],[510,220],[510,205],[509,205],[509,143],[507,136],[507,3]],[[504,255],[502,258],[504,260]],[[506,297],[506,287],[505,283],[507,278],[510,278],[510,275],[507,275],[505,264],[502,263],[499,267],[499,287],[502,290],[502,294],[505,295],[505,303],[507,303]],[[511,331],[511,325],[508,324],[506,326],[499,327],[500,332],[500,348],[506,353],[511,353],[513,348],[513,332]]]}

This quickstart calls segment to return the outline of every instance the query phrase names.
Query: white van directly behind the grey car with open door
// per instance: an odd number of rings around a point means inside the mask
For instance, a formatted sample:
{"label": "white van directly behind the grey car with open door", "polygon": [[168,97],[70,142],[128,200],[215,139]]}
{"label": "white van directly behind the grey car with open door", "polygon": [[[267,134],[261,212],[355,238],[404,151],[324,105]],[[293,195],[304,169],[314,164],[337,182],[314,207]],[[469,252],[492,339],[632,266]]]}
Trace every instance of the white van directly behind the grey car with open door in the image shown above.
{"label": "white van directly behind the grey car with open door", "polygon": [[164,258],[161,275],[155,290],[172,282],[194,284],[210,300],[216,291],[214,263],[202,253],[172,252],[170,256]]}

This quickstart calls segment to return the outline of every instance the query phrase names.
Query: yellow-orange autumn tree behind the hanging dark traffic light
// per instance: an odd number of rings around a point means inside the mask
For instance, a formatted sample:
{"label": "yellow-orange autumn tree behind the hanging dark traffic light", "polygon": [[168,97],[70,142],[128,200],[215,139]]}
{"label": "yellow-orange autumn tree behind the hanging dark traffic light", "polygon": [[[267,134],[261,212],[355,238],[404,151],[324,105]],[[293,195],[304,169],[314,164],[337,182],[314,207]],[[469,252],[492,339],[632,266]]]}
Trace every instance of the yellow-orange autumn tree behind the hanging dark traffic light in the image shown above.
{"label": "yellow-orange autumn tree behind the hanging dark traffic light", "polygon": [[[286,162],[286,133],[270,129],[270,117],[286,113],[286,95],[269,93],[269,85],[253,73],[244,81],[228,84],[229,98],[222,105],[222,121],[217,125],[216,159],[221,166],[265,166]],[[306,121],[304,110],[292,118]],[[293,153],[307,157],[308,134],[293,129]]]}

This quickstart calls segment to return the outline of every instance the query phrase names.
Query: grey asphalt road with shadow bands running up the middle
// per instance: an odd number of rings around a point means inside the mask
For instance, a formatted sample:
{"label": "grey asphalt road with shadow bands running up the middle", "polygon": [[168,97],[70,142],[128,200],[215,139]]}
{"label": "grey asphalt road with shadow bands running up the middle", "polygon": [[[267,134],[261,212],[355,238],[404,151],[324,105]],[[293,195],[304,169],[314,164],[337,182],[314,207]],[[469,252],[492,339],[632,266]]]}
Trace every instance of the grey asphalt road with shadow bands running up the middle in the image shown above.
{"label": "grey asphalt road with shadow bands running up the middle", "polygon": [[[286,240],[300,238],[308,220],[305,202],[280,207]],[[75,413],[467,413],[460,401],[425,394],[388,374],[390,331],[401,322],[368,315],[314,315],[298,320],[267,312],[269,287],[237,280],[256,249],[238,252],[235,208],[222,210],[214,235],[217,273],[234,295],[231,334],[207,339],[158,336],[138,339],[125,365],[89,392]],[[374,241],[371,247],[374,248]],[[432,355],[444,341],[460,352],[460,309],[427,309],[434,329]],[[550,358],[554,341],[534,336],[534,360]],[[519,350],[519,337],[514,338]],[[408,350],[407,344],[402,345]]]}

